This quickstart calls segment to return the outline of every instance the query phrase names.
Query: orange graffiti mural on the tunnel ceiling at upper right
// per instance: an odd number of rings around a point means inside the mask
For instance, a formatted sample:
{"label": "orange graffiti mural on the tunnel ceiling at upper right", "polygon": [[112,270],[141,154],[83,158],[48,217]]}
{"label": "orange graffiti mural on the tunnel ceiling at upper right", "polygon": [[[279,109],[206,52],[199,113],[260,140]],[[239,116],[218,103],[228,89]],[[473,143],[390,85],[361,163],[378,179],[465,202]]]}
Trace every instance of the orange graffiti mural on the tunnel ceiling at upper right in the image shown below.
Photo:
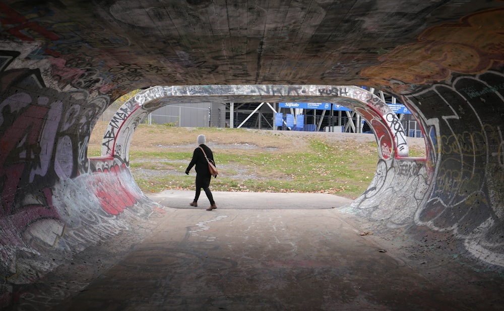
{"label": "orange graffiti mural on the tunnel ceiling at upper right", "polygon": [[425,84],[448,79],[452,72],[473,74],[504,62],[504,9],[468,15],[460,23],[430,27],[420,42],[397,47],[365,68],[364,77]]}

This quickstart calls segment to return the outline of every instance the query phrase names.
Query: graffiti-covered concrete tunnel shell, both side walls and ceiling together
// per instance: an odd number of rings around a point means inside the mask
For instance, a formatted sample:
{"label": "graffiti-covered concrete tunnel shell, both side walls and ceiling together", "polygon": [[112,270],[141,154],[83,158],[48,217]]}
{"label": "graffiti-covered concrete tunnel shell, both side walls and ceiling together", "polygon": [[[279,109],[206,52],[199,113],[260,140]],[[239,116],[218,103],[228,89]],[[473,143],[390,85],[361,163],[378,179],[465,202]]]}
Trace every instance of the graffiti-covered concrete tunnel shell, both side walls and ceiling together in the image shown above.
{"label": "graffiti-covered concrete tunnel shell, both side walls and ceiling together", "polygon": [[421,125],[427,160],[381,157],[349,212],[504,267],[503,1],[13,0],[0,12],[0,306],[162,208],[127,160],[87,157],[102,112],[151,86],[393,95]]}

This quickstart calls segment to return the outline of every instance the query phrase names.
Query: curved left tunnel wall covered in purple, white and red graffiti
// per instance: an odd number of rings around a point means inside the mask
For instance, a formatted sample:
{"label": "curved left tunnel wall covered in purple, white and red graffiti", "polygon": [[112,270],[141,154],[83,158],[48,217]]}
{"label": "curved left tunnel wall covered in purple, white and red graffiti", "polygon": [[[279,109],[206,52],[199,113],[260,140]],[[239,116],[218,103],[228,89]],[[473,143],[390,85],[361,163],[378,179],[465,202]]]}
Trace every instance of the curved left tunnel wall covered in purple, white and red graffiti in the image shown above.
{"label": "curved left tunnel wall covered in purple, white and red graffiti", "polygon": [[121,161],[87,158],[109,98],[48,88],[39,69],[10,68],[20,54],[0,52],[0,307],[157,206]]}

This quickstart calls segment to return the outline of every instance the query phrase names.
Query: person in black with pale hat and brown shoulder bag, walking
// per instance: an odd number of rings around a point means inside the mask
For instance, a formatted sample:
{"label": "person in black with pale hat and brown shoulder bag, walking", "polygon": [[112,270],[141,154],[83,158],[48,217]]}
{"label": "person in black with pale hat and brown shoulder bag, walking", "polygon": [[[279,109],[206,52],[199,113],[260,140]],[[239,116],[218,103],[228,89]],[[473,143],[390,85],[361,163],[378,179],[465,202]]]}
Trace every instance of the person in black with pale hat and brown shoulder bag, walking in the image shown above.
{"label": "person in black with pale hat and brown shoulder bag, walking", "polygon": [[[215,205],[214,197],[209,188],[212,175],[210,175],[210,171],[208,170],[208,162],[207,159],[205,159],[205,154],[207,155],[207,158],[212,160],[215,165],[214,154],[212,153],[212,150],[205,144],[207,142],[205,135],[199,135],[197,142],[199,146],[194,149],[193,159],[185,170],[185,174],[189,175],[191,169],[196,165],[196,195],[193,202],[189,203],[189,205],[195,207],[198,206],[198,199],[200,198],[201,188],[203,188],[203,191],[205,191],[205,194],[210,201],[210,207],[207,208],[207,210],[213,210],[216,209],[217,206]],[[203,151],[205,151],[205,154],[203,153]]]}

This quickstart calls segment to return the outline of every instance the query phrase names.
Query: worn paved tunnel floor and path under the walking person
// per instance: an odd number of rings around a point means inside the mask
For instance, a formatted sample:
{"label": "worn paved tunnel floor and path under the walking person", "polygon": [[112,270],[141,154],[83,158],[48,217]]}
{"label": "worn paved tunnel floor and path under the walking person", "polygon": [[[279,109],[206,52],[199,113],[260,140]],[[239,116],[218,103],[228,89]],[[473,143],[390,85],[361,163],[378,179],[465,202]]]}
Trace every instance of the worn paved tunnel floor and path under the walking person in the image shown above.
{"label": "worn paved tunnel floor and path under the walking person", "polygon": [[[501,278],[456,261],[413,266],[329,194],[152,195],[161,217],[89,248],[19,310],[498,310]],[[434,262],[437,260],[436,262]],[[49,299],[50,298],[50,299]],[[24,299],[24,300],[23,300]]]}

